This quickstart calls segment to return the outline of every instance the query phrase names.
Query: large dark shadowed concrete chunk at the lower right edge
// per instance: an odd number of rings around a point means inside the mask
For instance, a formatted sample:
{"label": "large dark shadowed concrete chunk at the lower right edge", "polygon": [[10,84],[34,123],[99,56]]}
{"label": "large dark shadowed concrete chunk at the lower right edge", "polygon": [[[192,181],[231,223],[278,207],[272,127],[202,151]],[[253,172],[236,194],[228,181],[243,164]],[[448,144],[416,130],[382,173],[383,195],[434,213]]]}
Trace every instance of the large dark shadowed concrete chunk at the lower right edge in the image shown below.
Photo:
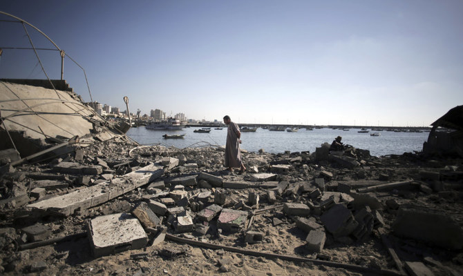
{"label": "large dark shadowed concrete chunk at the lower right edge", "polygon": [[462,229],[450,216],[438,210],[401,206],[393,230],[399,236],[418,239],[442,248],[463,248]]}

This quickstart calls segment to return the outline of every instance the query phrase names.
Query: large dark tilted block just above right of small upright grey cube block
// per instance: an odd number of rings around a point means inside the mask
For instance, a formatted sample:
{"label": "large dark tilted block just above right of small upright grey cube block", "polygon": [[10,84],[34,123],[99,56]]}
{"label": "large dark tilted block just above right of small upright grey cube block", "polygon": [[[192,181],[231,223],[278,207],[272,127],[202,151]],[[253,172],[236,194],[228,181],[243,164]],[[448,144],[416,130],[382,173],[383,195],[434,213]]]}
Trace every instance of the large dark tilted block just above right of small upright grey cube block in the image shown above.
{"label": "large dark tilted block just above right of small upright grey cube block", "polygon": [[350,210],[343,204],[336,204],[330,210],[325,211],[320,219],[326,230],[334,237],[349,235],[358,226]]}

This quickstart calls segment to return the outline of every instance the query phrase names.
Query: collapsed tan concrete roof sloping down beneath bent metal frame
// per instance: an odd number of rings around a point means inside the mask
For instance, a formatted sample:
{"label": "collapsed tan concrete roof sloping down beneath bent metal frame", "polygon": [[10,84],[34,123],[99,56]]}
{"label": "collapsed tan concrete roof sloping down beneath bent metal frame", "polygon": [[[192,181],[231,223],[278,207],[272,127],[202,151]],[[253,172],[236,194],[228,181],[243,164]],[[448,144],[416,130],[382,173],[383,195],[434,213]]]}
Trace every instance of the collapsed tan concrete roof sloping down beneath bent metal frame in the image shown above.
{"label": "collapsed tan concrete roof sloping down beneath bent metal frame", "polygon": [[[0,124],[0,150],[17,148],[24,157],[75,136],[81,138],[80,146],[86,146],[93,144],[95,140],[105,141],[123,135],[128,130],[123,129],[124,124],[116,128],[113,123],[97,115],[72,89],[65,91],[45,88],[44,86],[50,85],[48,80],[16,82],[18,83],[13,83],[12,80],[0,81],[0,110],[3,121]],[[87,138],[91,141],[85,141]]]}

